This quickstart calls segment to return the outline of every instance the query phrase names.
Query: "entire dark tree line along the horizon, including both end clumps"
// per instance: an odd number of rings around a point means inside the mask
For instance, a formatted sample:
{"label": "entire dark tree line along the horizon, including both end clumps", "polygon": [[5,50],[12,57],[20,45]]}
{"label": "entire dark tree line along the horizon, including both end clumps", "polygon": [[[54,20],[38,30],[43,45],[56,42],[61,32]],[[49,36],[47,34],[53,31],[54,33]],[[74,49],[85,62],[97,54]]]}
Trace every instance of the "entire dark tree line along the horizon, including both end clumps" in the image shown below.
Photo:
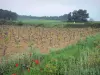
{"label": "entire dark tree line along the horizon, including both end clumps", "polygon": [[44,19],[44,20],[61,20],[66,22],[87,22],[89,18],[89,13],[87,10],[79,9],[74,10],[68,14],[61,16],[26,16],[26,15],[17,15],[17,13],[0,9],[0,19],[4,20],[29,20],[29,19]]}

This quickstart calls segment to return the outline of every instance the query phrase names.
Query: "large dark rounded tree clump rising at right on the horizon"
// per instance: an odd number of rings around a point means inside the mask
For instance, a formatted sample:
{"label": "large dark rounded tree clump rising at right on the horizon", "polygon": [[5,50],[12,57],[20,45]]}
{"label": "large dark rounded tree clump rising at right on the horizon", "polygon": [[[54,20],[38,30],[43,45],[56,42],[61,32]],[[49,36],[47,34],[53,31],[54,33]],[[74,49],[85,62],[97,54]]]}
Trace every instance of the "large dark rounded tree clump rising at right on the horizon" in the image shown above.
{"label": "large dark rounded tree clump rising at right on the horizon", "polygon": [[87,19],[89,18],[89,14],[87,13],[87,10],[74,10],[73,12],[70,12],[67,17],[67,21],[70,22],[87,22]]}

